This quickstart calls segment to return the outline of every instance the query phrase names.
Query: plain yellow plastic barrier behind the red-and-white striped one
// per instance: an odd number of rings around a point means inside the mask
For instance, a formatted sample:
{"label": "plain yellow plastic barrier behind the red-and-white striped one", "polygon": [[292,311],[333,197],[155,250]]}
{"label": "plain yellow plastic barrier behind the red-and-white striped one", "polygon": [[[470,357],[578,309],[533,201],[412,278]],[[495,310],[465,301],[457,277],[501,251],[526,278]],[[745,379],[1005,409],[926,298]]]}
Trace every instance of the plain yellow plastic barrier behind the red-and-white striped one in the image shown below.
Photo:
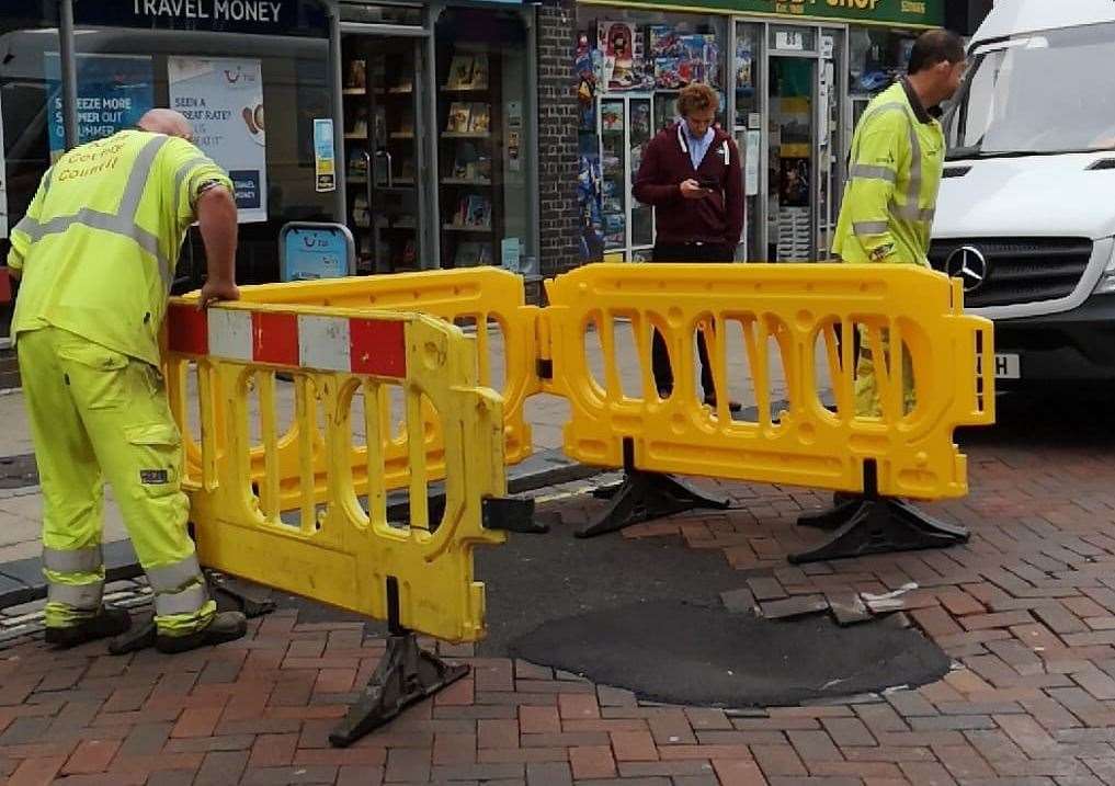
{"label": "plain yellow plastic barrier behind the red-and-white striped one", "polygon": [[[195,295],[187,297],[186,300],[192,300],[193,297]],[[475,324],[479,385],[494,387],[492,359],[497,353],[503,358],[504,384],[501,394],[504,400],[505,460],[507,464],[517,464],[531,455],[531,427],[525,420],[523,407],[525,400],[539,392],[541,387],[535,363],[537,357],[535,323],[539,309],[526,305],[520,276],[488,268],[263,284],[242,288],[240,302],[361,311],[367,309],[415,311],[447,321]],[[493,346],[493,337],[486,329],[493,323],[502,333],[502,347]],[[192,380],[190,371],[188,365],[183,362],[167,363],[166,368],[168,391],[172,400],[180,402],[183,424],[188,424],[190,420],[186,411],[187,401],[195,395],[191,388],[196,387],[205,398],[203,381],[200,378]],[[260,408],[264,413],[274,411],[274,407],[270,405],[275,396],[275,390],[270,387],[272,382],[264,381],[259,387]],[[225,417],[223,401],[220,398],[210,398],[210,404],[214,407],[212,416],[214,423],[222,423]],[[425,411],[421,429],[415,431],[401,429],[387,444],[385,460],[388,467],[386,481],[388,488],[398,487],[400,478],[405,476],[411,449],[409,434],[423,435],[430,478],[438,479],[444,476],[442,466],[444,438],[436,418],[430,415],[428,410]],[[389,418],[386,413],[384,417]],[[384,431],[387,433],[392,426],[396,424],[385,420]],[[299,436],[299,424],[290,424],[289,429],[282,424],[275,424],[274,427],[280,431],[277,435],[280,476],[291,478],[302,467],[304,460],[299,453],[303,449],[300,447],[303,440]],[[313,434],[316,436],[311,438],[309,453],[313,466],[316,496],[321,502],[327,494],[326,466],[320,429],[314,429]],[[187,465],[196,468],[201,462],[202,448],[195,443],[187,427],[183,428],[183,436]],[[263,458],[263,446],[254,445],[251,450],[251,472],[256,482],[265,477]],[[358,475],[356,484],[359,493],[367,491],[363,476]],[[297,503],[297,487],[293,484],[284,482],[280,491],[285,503]]]}

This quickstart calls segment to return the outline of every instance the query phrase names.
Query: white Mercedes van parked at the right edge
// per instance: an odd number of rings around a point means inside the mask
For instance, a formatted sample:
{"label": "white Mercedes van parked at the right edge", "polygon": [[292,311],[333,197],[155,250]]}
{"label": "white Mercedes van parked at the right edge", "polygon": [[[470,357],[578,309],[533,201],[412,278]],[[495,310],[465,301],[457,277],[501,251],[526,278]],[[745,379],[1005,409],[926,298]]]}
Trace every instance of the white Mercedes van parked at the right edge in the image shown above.
{"label": "white Mercedes van parked at the right edge", "polygon": [[1115,380],[1115,2],[998,0],[944,117],[930,261],[1000,388]]}

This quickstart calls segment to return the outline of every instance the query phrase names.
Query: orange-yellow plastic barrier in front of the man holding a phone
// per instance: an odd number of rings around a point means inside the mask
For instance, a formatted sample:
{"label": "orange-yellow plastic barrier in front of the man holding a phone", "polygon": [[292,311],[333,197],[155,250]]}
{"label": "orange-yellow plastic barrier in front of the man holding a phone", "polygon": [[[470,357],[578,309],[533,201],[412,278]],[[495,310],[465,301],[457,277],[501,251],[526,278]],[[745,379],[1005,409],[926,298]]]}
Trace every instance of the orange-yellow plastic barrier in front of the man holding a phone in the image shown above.
{"label": "orange-yellow plastic barrier in front of the man holding a phone", "polygon": [[[542,349],[554,375],[545,387],[571,402],[565,453],[580,462],[861,492],[865,462],[873,460],[872,491],[882,495],[940,498],[968,491],[952,431],[993,421],[991,323],[964,316],[959,283],[942,274],[899,265],[598,264],[547,281],[546,293]],[[617,320],[630,321],[648,396],[623,391]],[[758,402],[754,421],[733,419],[727,395],[715,409],[698,401],[692,370],[700,323],[712,328],[709,352],[720,391],[728,389],[725,337],[741,334]],[[876,358],[878,418],[855,414],[853,342],[837,337],[850,339],[856,326],[866,329]],[[676,388],[665,400],[651,372],[653,328],[676,369]],[[590,329],[600,331],[603,380],[585,357]],[[899,371],[903,347],[917,400],[909,413]],[[834,410],[818,392],[822,353]],[[888,361],[879,362],[882,357]],[[788,392],[783,413],[772,411],[775,360]]]}

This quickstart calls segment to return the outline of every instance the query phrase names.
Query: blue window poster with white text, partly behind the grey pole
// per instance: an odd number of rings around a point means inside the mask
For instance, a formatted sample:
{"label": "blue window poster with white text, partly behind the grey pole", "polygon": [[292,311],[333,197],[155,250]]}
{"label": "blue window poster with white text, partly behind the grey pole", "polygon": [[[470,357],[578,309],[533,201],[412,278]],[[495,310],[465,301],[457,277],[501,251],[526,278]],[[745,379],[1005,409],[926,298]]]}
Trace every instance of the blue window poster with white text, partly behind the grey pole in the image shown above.
{"label": "blue window poster with white text, partly behind the grey pole", "polygon": [[[61,65],[56,52],[47,52],[46,58],[50,154],[56,158],[66,149]],[[149,56],[77,56],[78,144],[132,128],[154,106],[154,71]]]}

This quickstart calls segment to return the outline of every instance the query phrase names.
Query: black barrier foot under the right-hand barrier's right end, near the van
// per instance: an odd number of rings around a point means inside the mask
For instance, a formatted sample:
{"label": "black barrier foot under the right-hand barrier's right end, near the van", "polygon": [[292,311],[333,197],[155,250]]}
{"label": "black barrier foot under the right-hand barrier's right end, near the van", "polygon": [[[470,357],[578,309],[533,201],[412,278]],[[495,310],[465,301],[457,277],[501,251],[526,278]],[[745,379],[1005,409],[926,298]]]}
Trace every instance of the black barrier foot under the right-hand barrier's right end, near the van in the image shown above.
{"label": "black barrier foot under the right-hand barrier's right end, near the van", "polygon": [[865,554],[940,549],[968,542],[969,533],[964,527],[931,518],[901,499],[880,497],[875,473],[874,462],[865,462],[862,497],[833,511],[798,518],[802,526],[835,530],[835,533],[816,549],[791,554],[791,563],[799,565]]}

